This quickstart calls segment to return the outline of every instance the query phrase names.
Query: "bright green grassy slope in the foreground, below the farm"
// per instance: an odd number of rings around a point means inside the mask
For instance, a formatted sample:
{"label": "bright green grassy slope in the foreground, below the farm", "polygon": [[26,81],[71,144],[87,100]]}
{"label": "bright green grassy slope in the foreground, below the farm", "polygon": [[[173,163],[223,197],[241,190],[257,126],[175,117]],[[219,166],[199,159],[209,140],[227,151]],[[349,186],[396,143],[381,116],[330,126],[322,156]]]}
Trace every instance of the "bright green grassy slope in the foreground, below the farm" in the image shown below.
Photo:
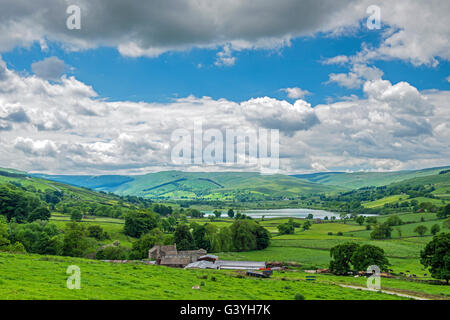
{"label": "bright green grassy slope in the foreground, below the farm", "polygon": [[[81,270],[81,289],[66,287],[68,266]],[[306,299],[371,300],[400,297],[291,279],[241,278],[237,272],[184,270],[143,264],[111,264],[85,259],[0,253],[0,299]],[[201,286],[193,290],[193,286]]]}

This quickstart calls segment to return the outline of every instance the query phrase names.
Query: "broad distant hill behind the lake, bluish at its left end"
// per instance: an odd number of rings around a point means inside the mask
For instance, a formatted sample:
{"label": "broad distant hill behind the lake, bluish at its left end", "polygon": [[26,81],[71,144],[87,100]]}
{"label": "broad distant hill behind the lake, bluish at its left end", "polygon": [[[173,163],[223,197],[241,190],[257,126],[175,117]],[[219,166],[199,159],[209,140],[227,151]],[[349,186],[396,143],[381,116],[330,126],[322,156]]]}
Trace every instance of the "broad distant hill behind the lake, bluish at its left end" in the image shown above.
{"label": "broad distant hill behind the lake, bluish at its left end", "polygon": [[291,176],[256,172],[164,171],[136,176],[34,176],[120,195],[160,199],[257,200],[342,190]]}

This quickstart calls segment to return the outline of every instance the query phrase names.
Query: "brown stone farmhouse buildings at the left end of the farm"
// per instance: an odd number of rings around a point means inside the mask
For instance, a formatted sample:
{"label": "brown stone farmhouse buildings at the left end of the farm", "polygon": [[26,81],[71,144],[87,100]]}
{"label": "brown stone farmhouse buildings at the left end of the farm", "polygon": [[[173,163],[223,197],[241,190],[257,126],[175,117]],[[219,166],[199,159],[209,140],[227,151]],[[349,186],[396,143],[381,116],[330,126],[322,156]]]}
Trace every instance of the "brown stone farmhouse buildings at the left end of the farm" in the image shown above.
{"label": "brown stone farmhouse buildings at the left end of the farm", "polygon": [[184,250],[178,251],[177,245],[160,246],[156,245],[148,251],[149,259],[156,260],[157,265],[170,267],[185,267],[195,262],[206,254],[206,250]]}

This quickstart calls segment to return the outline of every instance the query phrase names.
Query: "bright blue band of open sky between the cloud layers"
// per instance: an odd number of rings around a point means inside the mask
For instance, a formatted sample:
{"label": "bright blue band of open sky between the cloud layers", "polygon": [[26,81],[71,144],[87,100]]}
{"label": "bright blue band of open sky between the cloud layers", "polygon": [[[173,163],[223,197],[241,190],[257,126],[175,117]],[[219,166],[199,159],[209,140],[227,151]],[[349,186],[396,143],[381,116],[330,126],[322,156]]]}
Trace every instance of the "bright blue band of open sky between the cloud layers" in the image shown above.
{"label": "bright blue band of open sky between the cloud layers", "polygon": [[[338,55],[352,56],[363,43],[377,47],[382,32],[362,29],[350,35],[319,34],[294,39],[290,46],[280,49],[243,50],[234,53],[236,62],[232,66],[214,64],[220,49],[194,48],[155,58],[134,58],[108,47],[67,52],[51,42],[48,51],[43,52],[35,43],[4,53],[3,60],[16,71],[33,74],[32,63],[56,56],[73,67],[67,74],[93,86],[100,97],[111,101],[168,102],[191,94],[236,102],[261,96],[292,100],[280,89],[299,87],[311,93],[305,99],[314,106],[329,98],[362,96],[360,89],[326,83],[330,73],[346,72],[347,68],[322,62]],[[450,88],[445,80],[449,62],[442,59],[437,66],[414,66],[402,60],[377,61],[372,65],[392,83],[408,81],[419,90]]]}

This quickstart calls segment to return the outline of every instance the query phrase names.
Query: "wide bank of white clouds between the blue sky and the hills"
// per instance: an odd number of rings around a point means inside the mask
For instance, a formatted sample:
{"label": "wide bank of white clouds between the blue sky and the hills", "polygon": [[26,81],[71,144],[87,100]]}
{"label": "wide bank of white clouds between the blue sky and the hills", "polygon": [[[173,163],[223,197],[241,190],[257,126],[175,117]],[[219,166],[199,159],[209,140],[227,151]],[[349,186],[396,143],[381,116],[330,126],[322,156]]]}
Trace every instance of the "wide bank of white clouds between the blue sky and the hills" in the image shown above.
{"label": "wide bank of white clouds between the blue sky and the hills", "polygon": [[450,158],[450,92],[420,92],[407,82],[365,80],[365,98],[312,107],[269,97],[112,102],[74,77],[48,82],[1,60],[0,74],[0,166],[91,174],[230,170],[172,163],[172,133],[192,131],[196,122],[222,132],[279,129],[282,172],[420,168]]}

